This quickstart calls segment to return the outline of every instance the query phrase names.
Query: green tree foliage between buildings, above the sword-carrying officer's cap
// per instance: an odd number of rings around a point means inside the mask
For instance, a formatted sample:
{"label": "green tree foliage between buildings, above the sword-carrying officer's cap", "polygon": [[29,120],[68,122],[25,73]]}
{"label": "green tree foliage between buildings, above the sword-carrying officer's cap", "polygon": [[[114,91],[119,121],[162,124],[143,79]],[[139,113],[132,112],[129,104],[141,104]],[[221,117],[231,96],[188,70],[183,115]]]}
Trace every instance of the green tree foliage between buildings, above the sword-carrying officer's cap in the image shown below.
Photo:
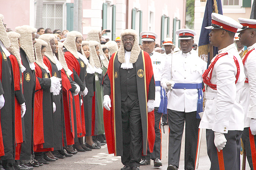
{"label": "green tree foliage between buildings, above the sword-carrying officer's cap", "polygon": [[186,28],[194,28],[195,0],[186,0]]}

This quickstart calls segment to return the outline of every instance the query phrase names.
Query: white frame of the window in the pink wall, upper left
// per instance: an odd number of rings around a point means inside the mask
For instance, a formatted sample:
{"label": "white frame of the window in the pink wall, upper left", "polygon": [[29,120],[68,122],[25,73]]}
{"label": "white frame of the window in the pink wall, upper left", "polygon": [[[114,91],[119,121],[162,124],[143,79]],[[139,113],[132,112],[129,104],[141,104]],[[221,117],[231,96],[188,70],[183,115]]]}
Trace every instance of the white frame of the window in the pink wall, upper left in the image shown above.
{"label": "white frame of the window in the pink wall, upper left", "polygon": [[[62,5],[62,29],[61,30],[65,30],[66,29],[66,25],[67,25],[67,7],[66,7],[66,1],[64,0],[44,0],[43,4],[54,4],[54,5]],[[55,13],[56,11],[54,11]],[[45,18],[45,17],[43,17]],[[47,17],[49,18],[49,17]],[[48,27],[47,27],[48,28]],[[46,29],[46,28],[45,28]],[[55,30],[56,28],[50,28]]]}

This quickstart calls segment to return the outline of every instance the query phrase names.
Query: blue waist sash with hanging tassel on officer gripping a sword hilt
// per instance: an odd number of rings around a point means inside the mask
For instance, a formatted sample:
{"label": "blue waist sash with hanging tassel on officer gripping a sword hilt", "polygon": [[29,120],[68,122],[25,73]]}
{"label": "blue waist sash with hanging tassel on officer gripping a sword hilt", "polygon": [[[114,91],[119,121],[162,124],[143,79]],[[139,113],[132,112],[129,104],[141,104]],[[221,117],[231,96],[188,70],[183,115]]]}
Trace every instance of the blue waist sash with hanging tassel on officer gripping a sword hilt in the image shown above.
{"label": "blue waist sash with hanging tassel on officer gripping a sword hilt", "polygon": [[[203,111],[203,84],[190,84],[190,83],[175,83],[173,89],[198,89],[198,106],[196,110],[196,118],[201,119],[199,114]],[[201,97],[201,98],[200,98]]]}

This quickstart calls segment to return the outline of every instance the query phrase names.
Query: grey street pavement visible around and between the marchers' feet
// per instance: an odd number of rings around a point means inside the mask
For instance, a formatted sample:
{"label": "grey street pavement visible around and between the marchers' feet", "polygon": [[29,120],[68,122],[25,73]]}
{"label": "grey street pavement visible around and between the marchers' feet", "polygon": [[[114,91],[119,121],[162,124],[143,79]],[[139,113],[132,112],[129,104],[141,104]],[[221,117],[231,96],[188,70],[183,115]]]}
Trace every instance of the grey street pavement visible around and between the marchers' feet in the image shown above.
{"label": "grey street pavement visible around and between the marchers' feet", "polygon": [[[164,126],[167,132],[167,125]],[[184,129],[185,131],[185,129]],[[209,170],[210,160],[206,149],[206,130],[203,130],[203,136],[199,154],[198,170]],[[163,133],[162,129],[162,158],[163,166],[159,168],[153,167],[154,163],[151,160],[151,165],[141,166],[141,170],[166,170],[168,159],[166,157],[167,148],[167,133]],[[182,137],[181,157],[179,162],[179,170],[184,170],[184,154],[185,154],[185,132]],[[242,156],[241,156],[242,162]],[[123,167],[120,156],[108,154],[107,145],[101,149],[93,149],[92,151],[78,152],[78,154],[65,159],[58,159],[56,162],[50,162],[49,165],[35,167],[35,170],[120,170]],[[249,164],[246,161],[246,170],[250,170]]]}

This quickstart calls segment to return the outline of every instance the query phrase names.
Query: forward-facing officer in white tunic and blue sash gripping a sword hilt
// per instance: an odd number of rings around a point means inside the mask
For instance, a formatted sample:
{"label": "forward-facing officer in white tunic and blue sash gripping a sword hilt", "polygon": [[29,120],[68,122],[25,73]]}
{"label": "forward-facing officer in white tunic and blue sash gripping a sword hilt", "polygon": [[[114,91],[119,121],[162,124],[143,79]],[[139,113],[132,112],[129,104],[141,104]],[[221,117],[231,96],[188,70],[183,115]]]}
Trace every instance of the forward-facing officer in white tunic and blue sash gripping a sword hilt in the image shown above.
{"label": "forward-facing officer in white tunic and blue sash gripping a sword hilt", "polygon": [[169,57],[166,60],[161,78],[161,86],[169,90],[167,109],[170,133],[167,170],[178,169],[185,121],[185,170],[194,170],[200,122],[197,112],[202,110],[202,74],[207,64],[192,48],[193,37],[196,35],[194,30],[179,29],[176,34],[179,36],[181,51],[174,53],[172,59]]}

